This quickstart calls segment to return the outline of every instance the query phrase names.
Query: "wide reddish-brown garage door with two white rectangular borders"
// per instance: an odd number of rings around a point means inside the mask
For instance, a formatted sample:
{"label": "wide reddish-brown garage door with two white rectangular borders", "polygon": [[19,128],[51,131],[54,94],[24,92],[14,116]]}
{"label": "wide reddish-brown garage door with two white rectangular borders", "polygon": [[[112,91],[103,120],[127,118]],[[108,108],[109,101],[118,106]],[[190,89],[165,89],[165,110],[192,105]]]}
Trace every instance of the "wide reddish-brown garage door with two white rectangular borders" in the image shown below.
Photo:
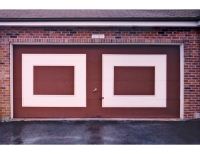
{"label": "wide reddish-brown garage door with two white rectangular borders", "polygon": [[14,118],[179,118],[180,49],[14,45]]}

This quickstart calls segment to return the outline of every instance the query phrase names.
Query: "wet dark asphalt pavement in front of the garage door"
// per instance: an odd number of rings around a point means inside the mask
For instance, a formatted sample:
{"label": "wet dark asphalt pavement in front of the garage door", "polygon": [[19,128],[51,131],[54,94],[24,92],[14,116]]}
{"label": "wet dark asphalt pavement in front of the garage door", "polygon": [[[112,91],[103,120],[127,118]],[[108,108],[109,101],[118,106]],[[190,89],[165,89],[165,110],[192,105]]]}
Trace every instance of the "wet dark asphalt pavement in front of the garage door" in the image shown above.
{"label": "wet dark asphalt pavement in front of the garage door", "polygon": [[0,122],[0,144],[200,144],[200,120]]}

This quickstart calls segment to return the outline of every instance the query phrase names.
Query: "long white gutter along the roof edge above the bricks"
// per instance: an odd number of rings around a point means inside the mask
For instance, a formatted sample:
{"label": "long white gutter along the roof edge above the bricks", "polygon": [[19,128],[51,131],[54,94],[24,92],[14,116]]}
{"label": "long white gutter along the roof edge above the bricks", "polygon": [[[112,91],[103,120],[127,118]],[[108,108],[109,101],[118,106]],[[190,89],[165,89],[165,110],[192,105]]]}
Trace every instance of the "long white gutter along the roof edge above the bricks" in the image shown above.
{"label": "long white gutter along the roof edge above the bricks", "polygon": [[0,26],[25,27],[200,27],[200,21],[22,21],[2,22]]}

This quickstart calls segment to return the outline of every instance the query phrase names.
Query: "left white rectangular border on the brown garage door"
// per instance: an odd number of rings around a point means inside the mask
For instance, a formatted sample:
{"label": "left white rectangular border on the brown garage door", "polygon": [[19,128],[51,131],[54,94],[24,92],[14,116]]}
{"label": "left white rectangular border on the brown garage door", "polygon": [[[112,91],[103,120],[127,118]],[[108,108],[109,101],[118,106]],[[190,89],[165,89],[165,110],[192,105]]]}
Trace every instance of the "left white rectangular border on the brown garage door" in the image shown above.
{"label": "left white rectangular border on the brown garage door", "polygon": [[[74,95],[34,95],[33,66],[74,66]],[[86,107],[86,55],[22,54],[22,107]]]}

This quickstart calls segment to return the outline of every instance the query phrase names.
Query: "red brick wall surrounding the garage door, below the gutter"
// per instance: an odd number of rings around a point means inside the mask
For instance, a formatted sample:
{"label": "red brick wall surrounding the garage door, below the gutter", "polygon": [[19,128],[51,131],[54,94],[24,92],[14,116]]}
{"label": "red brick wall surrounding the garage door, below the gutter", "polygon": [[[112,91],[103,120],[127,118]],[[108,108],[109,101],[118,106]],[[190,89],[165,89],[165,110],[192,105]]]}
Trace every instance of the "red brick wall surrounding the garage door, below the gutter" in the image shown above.
{"label": "red brick wall surrounding the garage door, below the gutter", "polygon": [[[91,39],[105,34],[105,39]],[[129,27],[0,27],[0,119],[10,117],[9,44],[43,43],[184,43],[184,117],[200,113],[200,29]]]}

